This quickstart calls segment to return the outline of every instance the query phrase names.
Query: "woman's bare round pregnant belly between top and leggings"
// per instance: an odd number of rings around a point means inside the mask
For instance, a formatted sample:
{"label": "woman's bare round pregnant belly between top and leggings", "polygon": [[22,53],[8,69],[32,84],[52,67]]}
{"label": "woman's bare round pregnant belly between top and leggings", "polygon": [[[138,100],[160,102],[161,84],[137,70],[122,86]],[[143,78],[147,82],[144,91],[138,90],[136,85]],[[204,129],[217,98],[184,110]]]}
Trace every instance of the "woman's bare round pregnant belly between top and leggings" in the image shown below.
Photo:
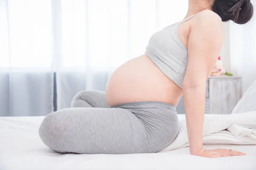
{"label": "woman's bare round pregnant belly between top and leggings", "polygon": [[182,89],[145,54],[117,68],[106,86],[110,106],[140,101],[166,102],[176,106],[182,95]]}

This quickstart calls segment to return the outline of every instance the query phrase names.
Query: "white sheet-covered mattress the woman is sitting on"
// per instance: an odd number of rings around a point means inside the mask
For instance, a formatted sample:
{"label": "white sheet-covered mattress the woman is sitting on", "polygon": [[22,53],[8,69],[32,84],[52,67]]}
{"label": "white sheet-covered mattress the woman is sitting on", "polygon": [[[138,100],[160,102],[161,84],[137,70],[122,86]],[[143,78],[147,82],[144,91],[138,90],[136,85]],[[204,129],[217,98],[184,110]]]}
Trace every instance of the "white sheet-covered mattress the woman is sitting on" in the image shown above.
{"label": "white sheet-covered mattress the woman is sitting on", "polygon": [[[185,118],[178,116],[180,120]],[[256,170],[256,145],[204,145],[206,149],[229,148],[247,153],[217,159],[192,156],[188,147],[122,155],[56,153],[38,136],[43,119],[43,116],[0,117],[0,170]]]}

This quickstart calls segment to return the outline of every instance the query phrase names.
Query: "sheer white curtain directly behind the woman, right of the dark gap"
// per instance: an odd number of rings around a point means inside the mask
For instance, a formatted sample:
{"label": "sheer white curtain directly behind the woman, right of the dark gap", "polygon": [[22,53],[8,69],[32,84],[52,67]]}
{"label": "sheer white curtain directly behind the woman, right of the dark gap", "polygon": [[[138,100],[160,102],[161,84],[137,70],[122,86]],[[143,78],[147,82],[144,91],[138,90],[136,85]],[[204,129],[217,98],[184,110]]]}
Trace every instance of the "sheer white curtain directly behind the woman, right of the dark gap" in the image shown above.
{"label": "sheer white curtain directly behind the woman, right of the dark gap", "polygon": [[170,0],[61,1],[58,109],[70,107],[79,91],[105,91],[111,73],[144,54],[154,32],[182,20],[187,5]]}

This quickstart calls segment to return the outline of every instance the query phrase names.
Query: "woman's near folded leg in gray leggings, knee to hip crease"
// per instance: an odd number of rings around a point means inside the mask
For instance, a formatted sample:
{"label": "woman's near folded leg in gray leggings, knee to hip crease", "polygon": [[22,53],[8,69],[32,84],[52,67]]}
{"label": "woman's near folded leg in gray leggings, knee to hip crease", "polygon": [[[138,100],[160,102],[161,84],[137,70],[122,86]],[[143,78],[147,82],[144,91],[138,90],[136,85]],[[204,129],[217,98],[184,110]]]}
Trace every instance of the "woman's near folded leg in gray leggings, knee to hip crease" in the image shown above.
{"label": "woman's near folded leg in gray leggings, knee to hip crease", "polygon": [[150,153],[145,127],[122,108],[68,108],[46,116],[39,129],[43,142],[58,152]]}

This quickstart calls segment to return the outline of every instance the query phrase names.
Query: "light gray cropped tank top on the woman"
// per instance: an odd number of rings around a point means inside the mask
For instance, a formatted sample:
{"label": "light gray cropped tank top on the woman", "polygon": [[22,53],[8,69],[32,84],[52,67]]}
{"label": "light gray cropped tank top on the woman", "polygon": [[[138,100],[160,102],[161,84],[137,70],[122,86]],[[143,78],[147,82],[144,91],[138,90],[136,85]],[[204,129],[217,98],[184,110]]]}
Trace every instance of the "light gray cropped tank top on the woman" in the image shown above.
{"label": "light gray cropped tank top on the woman", "polygon": [[182,88],[188,65],[188,50],[180,41],[178,28],[181,23],[184,23],[195,15],[167,26],[153,34],[145,51],[145,54],[157,67],[180,88]]}

